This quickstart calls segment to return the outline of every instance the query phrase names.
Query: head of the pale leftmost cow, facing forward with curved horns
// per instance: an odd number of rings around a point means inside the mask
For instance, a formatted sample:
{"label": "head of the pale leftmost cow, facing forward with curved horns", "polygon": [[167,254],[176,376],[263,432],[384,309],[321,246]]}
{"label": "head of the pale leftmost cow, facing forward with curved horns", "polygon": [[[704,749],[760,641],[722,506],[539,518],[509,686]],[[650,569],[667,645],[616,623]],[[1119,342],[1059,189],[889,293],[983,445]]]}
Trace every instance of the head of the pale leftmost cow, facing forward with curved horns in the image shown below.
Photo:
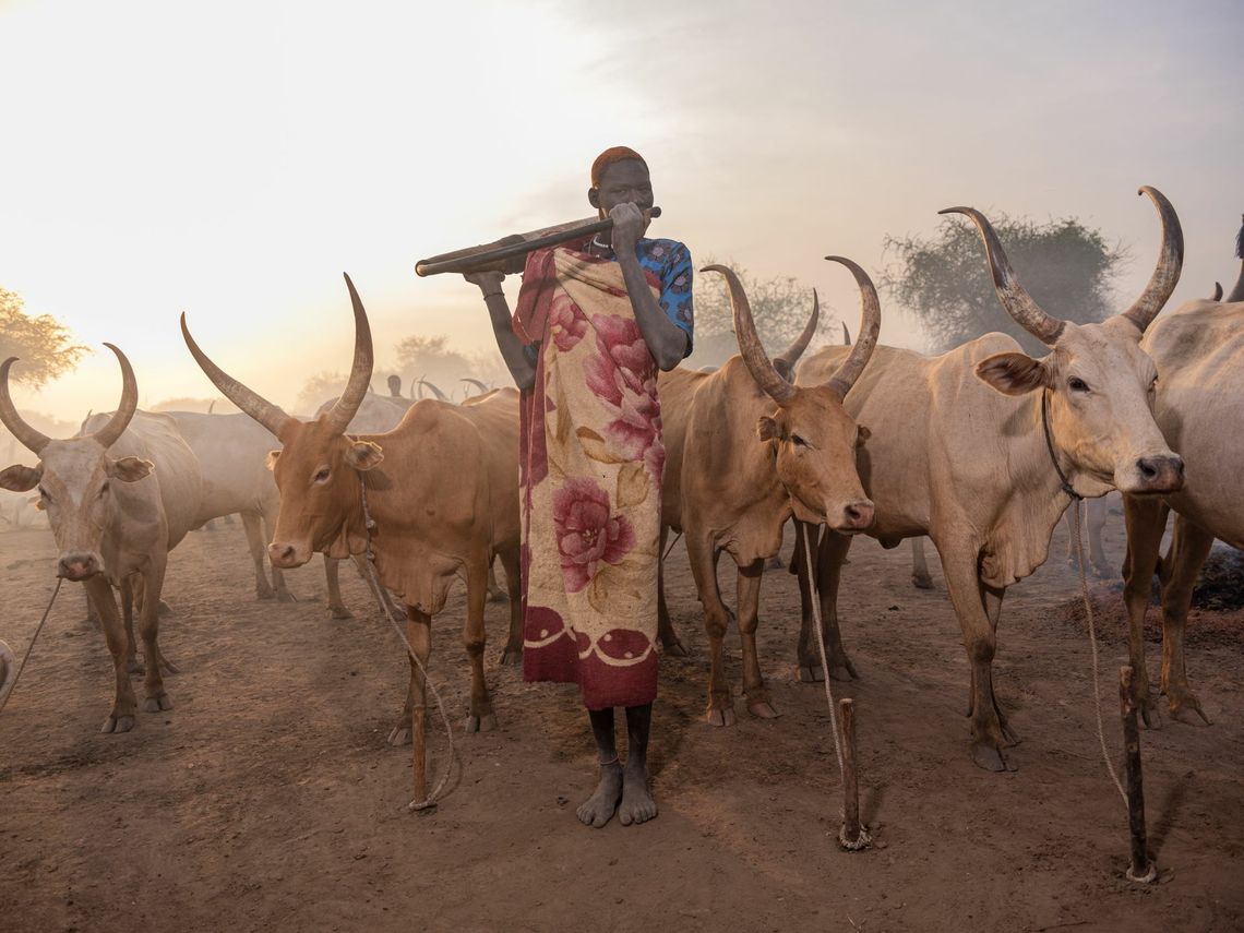
{"label": "head of the pale leftmost cow, facing forward with curved horns", "polygon": [[0,470],[0,488],[25,493],[39,488],[39,506],[60,550],[56,573],[66,580],[86,580],[107,569],[101,544],[113,506],[112,485],[134,483],[149,475],[149,460],[113,458],[108,448],[122,435],[138,408],[138,383],[126,355],[111,343],[106,347],[121,362],[123,388],[121,406],[93,434],[53,440],[22,420],[9,396],[10,357],[0,366],[0,419],[32,454],[37,466],[14,465]]}

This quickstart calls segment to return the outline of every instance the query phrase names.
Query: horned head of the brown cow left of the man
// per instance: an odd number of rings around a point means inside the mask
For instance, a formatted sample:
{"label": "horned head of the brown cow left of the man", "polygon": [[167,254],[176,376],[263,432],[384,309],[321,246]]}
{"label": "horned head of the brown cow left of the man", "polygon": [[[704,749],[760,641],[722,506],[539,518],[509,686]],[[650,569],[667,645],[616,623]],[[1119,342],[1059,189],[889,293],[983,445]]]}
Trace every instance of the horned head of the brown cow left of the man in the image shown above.
{"label": "horned head of the brown cow left of the man", "polygon": [[269,454],[269,466],[281,495],[267,556],[275,567],[300,567],[322,551],[348,557],[363,549],[361,471],[383,459],[377,444],[346,434],[372,378],[372,331],[355,284],[346,276],[355,311],[355,362],[345,392],[331,409],[300,422],[211,362],[190,336],[182,315],[182,336],[199,367],[230,402],[281,442]]}

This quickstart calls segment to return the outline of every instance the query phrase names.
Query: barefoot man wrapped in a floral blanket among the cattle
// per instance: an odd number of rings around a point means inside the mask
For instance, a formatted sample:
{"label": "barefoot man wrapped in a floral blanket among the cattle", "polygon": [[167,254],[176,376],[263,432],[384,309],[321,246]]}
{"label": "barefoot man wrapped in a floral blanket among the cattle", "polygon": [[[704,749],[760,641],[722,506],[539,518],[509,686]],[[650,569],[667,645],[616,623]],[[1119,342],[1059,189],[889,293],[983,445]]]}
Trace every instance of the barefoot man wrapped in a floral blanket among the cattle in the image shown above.
{"label": "barefoot man wrapped in a floral blanket among the cattle", "polygon": [[[600,827],[615,812],[627,826],[657,815],[657,371],[692,348],[692,260],[680,243],[643,238],[653,199],[637,152],[606,149],[591,178],[587,200],[612,233],[530,254],[513,318],[499,272],[466,280],[522,389],[522,673],[582,690],[601,775],[578,819]],[[626,708],[626,766],[615,707]]]}

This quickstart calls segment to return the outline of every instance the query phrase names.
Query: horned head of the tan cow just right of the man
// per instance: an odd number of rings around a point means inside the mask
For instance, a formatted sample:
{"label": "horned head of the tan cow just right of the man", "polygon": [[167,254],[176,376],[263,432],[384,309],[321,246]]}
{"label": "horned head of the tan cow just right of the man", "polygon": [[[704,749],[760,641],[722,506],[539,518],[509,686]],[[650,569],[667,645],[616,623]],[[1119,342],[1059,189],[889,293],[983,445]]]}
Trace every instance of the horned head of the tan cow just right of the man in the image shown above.
{"label": "horned head of the tan cow just right of the man", "polygon": [[795,518],[825,522],[835,531],[853,534],[870,527],[873,520],[873,505],[865,495],[856,470],[856,448],[868,432],[846,413],[842,399],[877,345],[881,302],[860,266],[837,256],[830,259],[842,262],[855,274],[863,297],[863,325],[851,355],[825,386],[792,386],[779,369],[782,367],[789,374],[807,346],[816,327],[816,305],[809,327],[795,345],[776,361],[770,361],[756,335],[751,306],[739,277],[719,265],[708,266],[705,271],[725,276],[740,356],[751,378],[778,406],[775,412],[760,418],[758,433],[774,453],[778,479],[790,494]]}

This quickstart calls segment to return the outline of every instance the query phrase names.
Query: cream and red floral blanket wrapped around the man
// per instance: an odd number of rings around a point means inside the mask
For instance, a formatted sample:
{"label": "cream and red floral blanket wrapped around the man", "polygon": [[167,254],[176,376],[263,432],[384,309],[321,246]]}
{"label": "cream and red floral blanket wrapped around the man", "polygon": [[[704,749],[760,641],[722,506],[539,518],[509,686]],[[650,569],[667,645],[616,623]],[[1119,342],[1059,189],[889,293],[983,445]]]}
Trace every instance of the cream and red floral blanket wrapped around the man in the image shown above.
{"label": "cream and red floral blanket wrapped around the man", "polygon": [[539,343],[521,402],[524,679],[577,683],[588,709],[652,703],[666,449],[621,266],[532,253],[514,330]]}

